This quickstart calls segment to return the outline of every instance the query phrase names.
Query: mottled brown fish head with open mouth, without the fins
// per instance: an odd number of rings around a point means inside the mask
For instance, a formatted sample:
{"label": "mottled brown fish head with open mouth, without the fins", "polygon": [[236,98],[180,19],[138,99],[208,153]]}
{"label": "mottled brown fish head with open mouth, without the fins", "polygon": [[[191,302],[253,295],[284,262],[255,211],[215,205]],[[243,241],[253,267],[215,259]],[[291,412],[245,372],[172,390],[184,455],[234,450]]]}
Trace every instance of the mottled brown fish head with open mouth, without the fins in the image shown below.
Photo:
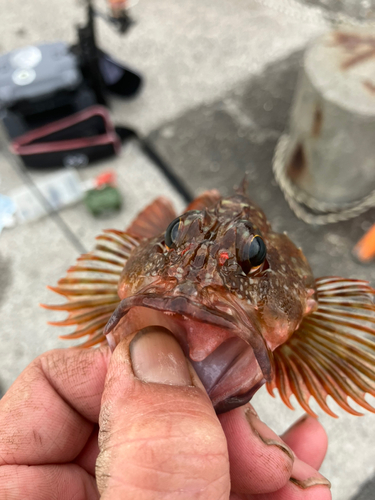
{"label": "mottled brown fish head with open mouth, without the fins", "polygon": [[216,410],[227,411],[271,380],[272,351],[314,306],[313,293],[302,252],[237,193],[189,210],[132,252],[107,339],[114,347],[140,329],[168,329]]}

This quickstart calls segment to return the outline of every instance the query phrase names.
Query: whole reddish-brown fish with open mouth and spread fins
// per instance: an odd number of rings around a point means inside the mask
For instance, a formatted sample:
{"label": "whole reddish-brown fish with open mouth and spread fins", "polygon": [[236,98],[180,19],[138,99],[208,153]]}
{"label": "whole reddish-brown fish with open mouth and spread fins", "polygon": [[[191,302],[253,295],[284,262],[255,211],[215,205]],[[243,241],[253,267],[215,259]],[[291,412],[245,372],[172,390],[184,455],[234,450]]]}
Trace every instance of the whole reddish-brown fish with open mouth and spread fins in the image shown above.
{"label": "whole reddish-brown fish with open mouth and spread fins", "polygon": [[125,230],[109,229],[51,290],[67,302],[61,338],[82,347],[150,326],[180,343],[218,413],[247,403],[264,384],[292,408],[310,397],[332,416],[331,396],[375,412],[375,290],[366,281],[314,279],[302,253],[272,231],[245,186],[222,198],[207,191],[177,217],[158,198]]}

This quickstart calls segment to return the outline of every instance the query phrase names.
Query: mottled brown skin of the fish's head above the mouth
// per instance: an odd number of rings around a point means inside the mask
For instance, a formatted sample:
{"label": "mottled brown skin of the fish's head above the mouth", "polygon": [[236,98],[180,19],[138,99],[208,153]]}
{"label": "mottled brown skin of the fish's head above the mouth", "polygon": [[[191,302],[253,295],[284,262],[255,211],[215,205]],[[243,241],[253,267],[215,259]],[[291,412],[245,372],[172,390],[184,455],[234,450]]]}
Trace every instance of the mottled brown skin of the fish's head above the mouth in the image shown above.
{"label": "mottled brown skin of the fish's head above the mouth", "polygon": [[[267,257],[246,275],[238,248],[251,235],[263,238]],[[241,193],[182,215],[172,248],[165,233],[142,242],[125,265],[118,293],[121,299],[184,296],[213,311],[235,309],[257,324],[270,351],[316,308],[314,278],[302,251],[273,232],[262,210]]]}

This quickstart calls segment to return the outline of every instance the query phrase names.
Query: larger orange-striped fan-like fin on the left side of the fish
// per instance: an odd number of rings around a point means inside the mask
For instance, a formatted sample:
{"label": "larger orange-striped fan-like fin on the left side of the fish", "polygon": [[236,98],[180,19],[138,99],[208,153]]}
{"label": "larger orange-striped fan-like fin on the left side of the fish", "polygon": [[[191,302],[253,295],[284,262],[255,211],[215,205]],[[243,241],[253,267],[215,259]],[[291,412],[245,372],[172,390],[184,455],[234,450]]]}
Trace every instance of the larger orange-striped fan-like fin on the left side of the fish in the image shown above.
{"label": "larger orange-striped fan-like fin on the left side of the fish", "polygon": [[76,326],[75,331],[60,335],[61,339],[87,337],[79,347],[106,344],[103,333],[107,321],[120,303],[117,285],[121,272],[138,239],[115,229],[97,236],[97,245],[90,253],[78,257],[57,286],[48,287],[63,295],[63,304],[41,304],[52,311],[66,311],[63,321],[50,321],[54,326]]}

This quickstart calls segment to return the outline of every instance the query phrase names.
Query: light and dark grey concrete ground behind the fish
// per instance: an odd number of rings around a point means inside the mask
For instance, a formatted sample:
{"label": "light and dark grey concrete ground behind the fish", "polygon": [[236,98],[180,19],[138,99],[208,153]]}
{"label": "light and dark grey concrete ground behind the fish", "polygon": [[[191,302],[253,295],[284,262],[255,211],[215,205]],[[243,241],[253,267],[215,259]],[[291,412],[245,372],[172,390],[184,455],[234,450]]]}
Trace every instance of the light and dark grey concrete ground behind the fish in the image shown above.
{"label": "light and dark grey concrete ground behind the fish", "polygon": [[[308,227],[290,212],[271,174],[303,49],[327,29],[319,12],[302,6],[291,9],[291,4],[283,8],[282,1],[273,0],[140,0],[132,9],[137,24],[123,38],[99,21],[100,45],[145,77],[137,98],[113,101],[112,115],[147,136],[194,193],[206,187],[229,192],[248,171],[251,196],[275,229],[287,230],[302,246],[317,276],[345,274],[375,284],[374,266],[363,268],[350,258],[375,212],[334,226]],[[104,2],[100,7],[105,8]],[[40,41],[73,42],[74,26],[84,18],[82,6],[73,0],[0,0],[0,9],[0,53]],[[124,197],[120,214],[97,220],[83,205],[61,211],[86,248],[102,228],[123,228],[154,196],[168,195],[178,209],[183,207],[179,194],[137,142],[80,175],[90,178],[108,168],[118,173]],[[35,179],[43,175],[33,174]],[[0,181],[2,193],[24,182],[4,150]],[[56,315],[39,309],[38,303],[55,301],[46,285],[54,284],[76,257],[76,248],[51,217],[0,235],[2,391],[37,355],[66,345],[57,339],[56,329],[46,325]],[[290,411],[265,390],[255,396],[254,404],[277,432],[303,413]],[[322,473],[332,481],[333,498],[375,498],[375,416],[352,417],[338,409],[340,418],[334,420],[317,412],[330,440]]]}

